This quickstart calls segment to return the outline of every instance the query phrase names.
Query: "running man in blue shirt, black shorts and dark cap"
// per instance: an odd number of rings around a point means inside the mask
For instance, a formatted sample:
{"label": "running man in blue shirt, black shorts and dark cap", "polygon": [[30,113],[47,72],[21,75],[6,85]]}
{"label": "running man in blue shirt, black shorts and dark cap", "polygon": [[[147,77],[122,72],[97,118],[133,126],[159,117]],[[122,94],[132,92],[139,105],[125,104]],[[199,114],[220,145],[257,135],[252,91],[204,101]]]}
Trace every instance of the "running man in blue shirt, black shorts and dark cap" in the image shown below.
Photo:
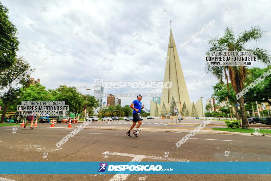
{"label": "running man in blue shirt, black shorts and dark cap", "polygon": [[135,101],[133,101],[130,105],[130,108],[134,109],[134,111],[133,111],[133,124],[131,125],[130,130],[127,133],[125,133],[125,135],[128,137],[131,137],[130,132],[131,132],[131,130],[133,130],[133,128],[136,125],[136,122],[138,121],[138,124],[136,126],[136,130],[133,132],[135,137],[138,138],[137,134],[139,133],[139,127],[142,124],[142,120],[139,117],[139,115],[140,115],[141,109],[143,109],[145,107],[144,105],[141,107],[141,105],[142,105],[141,99],[142,99],[141,94],[137,95],[137,99]]}

